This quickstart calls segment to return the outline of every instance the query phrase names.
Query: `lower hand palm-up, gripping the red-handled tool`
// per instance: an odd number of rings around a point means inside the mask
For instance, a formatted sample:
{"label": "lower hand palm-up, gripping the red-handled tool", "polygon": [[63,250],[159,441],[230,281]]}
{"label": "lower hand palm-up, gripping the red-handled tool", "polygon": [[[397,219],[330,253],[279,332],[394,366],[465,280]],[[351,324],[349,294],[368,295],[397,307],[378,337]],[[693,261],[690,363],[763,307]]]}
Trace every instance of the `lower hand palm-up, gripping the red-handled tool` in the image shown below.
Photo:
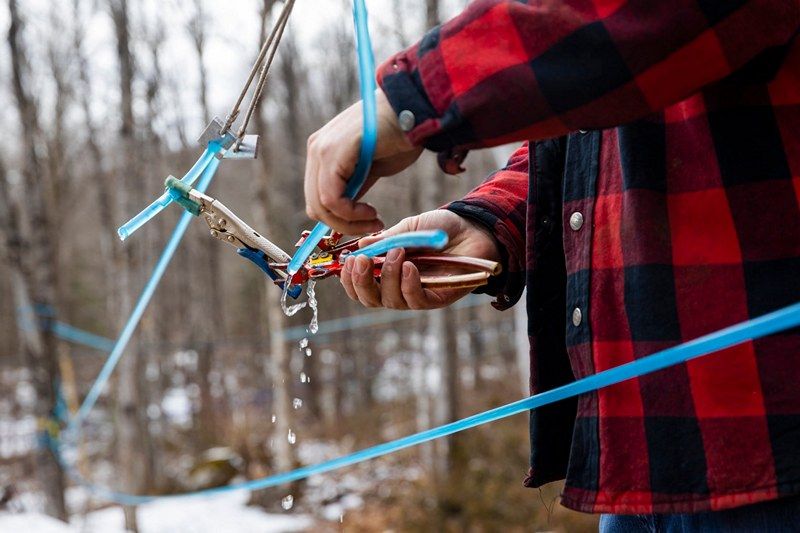
{"label": "lower hand palm-up, gripping the red-handled tool", "polygon": [[[497,242],[488,231],[445,209],[406,218],[380,235],[365,237],[360,244],[366,246],[398,233],[430,229],[442,229],[450,237],[443,252],[500,261]],[[372,267],[371,259],[357,256],[349,257],[342,270],[341,282],[347,295],[366,307],[438,309],[447,307],[472,290],[423,288],[419,270],[413,263],[405,261],[404,250],[392,250],[387,254],[380,283],[372,277]]]}

